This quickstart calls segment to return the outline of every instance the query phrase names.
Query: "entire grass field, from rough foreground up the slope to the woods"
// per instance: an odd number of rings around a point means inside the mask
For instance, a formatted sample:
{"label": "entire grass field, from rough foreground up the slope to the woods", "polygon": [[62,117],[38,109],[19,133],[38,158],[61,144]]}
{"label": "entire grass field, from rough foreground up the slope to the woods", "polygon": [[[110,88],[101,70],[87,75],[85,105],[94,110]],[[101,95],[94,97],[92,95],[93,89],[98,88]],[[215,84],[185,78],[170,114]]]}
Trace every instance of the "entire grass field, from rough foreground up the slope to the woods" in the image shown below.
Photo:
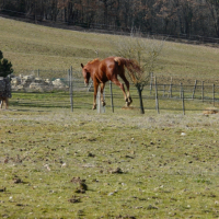
{"label": "entire grass field, from rough foreground up the slope to the woods", "polygon": [[[116,37],[0,18],[15,73],[80,70],[95,50],[113,55]],[[166,42],[154,73],[217,83],[218,51]],[[0,112],[0,218],[219,218],[219,117],[203,115],[209,102],[186,102],[184,116],[181,100],[161,100],[161,114],[146,100],[145,115],[138,100],[126,111],[115,100],[112,113],[107,99],[105,114],[91,111],[92,93],[74,101],[70,112],[65,93],[13,93]]]}

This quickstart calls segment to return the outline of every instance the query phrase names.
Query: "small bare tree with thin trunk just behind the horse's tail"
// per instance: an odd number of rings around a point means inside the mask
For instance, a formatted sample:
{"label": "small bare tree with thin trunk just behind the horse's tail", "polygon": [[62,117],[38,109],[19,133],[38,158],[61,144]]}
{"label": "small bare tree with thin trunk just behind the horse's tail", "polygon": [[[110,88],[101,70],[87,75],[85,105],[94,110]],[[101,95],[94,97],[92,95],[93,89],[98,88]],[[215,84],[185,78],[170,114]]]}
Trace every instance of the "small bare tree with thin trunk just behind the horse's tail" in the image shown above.
{"label": "small bare tree with thin trunk just behind the horse's tail", "polygon": [[129,79],[138,90],[140,110],[145,114],[142,103],[142,90],[149,83],[150,74],[158,66],[158,57],[162,50],[163,41],[143,38],[140,32],[131,32],[128,37],[118,37],[115,45],[116,55],[134,59],[138,62],[139,69],[127,71]]}

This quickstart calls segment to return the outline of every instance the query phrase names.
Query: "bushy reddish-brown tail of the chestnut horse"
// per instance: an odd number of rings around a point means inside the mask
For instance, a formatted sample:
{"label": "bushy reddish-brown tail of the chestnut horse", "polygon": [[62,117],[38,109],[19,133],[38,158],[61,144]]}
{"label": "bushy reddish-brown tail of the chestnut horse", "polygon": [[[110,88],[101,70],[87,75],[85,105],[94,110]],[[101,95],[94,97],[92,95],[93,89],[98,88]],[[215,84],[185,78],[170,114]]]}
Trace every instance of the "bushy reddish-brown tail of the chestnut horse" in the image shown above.
{"label": "bushy reddish-brown tail of the chestnut horse", "polygon": [[137,80],[136,76],[142,73],[140,65],[137,60],[123,57],[115,57],[114,61],[117,62],[118,66],[125,66],[127,68],[129,76],[134,82]]}

